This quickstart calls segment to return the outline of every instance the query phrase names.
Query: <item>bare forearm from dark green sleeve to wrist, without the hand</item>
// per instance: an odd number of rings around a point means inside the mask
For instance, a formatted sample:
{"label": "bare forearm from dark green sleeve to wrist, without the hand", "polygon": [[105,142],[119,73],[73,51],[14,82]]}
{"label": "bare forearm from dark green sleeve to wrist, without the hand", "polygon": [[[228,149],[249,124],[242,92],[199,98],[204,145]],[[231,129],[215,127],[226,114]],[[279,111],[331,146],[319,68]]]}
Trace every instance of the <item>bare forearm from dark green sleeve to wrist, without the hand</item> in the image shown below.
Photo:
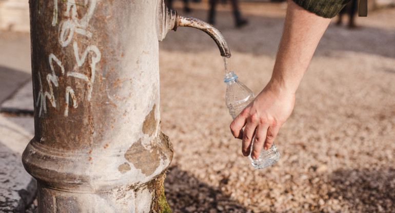
{"label": "bare forearm from dark green sleeve to wrist, without the hand", "polygon": [[269,86],[295,93],[330,23],[289,0],[283,36]]}

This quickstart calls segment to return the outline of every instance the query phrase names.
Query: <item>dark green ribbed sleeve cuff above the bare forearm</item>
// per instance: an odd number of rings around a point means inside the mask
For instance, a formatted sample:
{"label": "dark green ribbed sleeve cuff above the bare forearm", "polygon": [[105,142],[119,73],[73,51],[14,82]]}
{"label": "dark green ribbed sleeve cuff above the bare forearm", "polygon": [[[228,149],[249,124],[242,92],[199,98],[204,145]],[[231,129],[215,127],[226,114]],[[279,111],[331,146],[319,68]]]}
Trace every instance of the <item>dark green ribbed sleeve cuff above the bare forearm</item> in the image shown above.
{"label": "dark green ribbed sleeve cuff above the bare forearm", "polygon": [[350,0],[292,0],[304,9],[324,18],[333,18]]}

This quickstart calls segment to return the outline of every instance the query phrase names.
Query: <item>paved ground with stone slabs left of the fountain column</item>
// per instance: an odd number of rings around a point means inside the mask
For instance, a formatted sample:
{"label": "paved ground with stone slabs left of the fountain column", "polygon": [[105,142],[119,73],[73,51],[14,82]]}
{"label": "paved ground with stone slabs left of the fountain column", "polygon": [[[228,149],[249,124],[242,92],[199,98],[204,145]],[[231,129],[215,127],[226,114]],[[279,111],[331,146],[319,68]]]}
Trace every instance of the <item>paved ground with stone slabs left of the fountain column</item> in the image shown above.
{"label": "paved ground with stone slabs left of the fountain column", "polygon": [[0,212],[25,212],[36,195],[22,165],[34,135],[32,111],[29,34],[0,31]]}

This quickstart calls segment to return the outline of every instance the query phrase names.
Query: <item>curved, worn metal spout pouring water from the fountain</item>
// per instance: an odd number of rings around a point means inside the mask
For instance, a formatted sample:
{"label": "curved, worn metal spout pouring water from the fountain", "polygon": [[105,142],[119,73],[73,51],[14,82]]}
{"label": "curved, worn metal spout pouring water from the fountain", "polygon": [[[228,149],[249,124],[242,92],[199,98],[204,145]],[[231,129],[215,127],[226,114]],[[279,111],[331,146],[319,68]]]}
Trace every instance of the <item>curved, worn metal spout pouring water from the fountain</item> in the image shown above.
{"label": "curved, worn metal spout pouring water from the fountain", "polygon": [[220,49],[221,56],[230,57],[230,50],[224,36],[222,36],[221,32],[218,29],[214,28],[212,25],[204,22],[199,18],[177,15],[174,25],[174,31],[177,30],[177,27],[179,26],[193,27],[203,30],[204,32],[209,34],[212,39],[214,39],[216,45]]}

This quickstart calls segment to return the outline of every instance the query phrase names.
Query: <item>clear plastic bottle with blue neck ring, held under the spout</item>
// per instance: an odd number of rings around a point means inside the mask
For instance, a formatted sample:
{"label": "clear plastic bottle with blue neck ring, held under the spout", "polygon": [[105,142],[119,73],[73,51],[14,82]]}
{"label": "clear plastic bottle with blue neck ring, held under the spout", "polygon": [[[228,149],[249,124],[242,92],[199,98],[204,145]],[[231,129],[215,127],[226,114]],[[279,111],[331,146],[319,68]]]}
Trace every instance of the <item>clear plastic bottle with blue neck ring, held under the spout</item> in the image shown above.
{"label": "clear plastic bottle with blue neck ring, held under the spout", "polygon": [[[224,75],[224,82],[226,83],[226,107],[229,110],[229,114],[234,119],[254,99],[254,94],[238,80],[238,76],[234,72],[226,73]],[[254,141],[254,139],[252,139],[252,141]],[[277,146],[273,143],[267,151],[262,148],[258,159],[253,160],[251,154],[248,157],[251,160],[252,166],[259,169],[266,168],[279,161],[280,153],[277,151]]]}

